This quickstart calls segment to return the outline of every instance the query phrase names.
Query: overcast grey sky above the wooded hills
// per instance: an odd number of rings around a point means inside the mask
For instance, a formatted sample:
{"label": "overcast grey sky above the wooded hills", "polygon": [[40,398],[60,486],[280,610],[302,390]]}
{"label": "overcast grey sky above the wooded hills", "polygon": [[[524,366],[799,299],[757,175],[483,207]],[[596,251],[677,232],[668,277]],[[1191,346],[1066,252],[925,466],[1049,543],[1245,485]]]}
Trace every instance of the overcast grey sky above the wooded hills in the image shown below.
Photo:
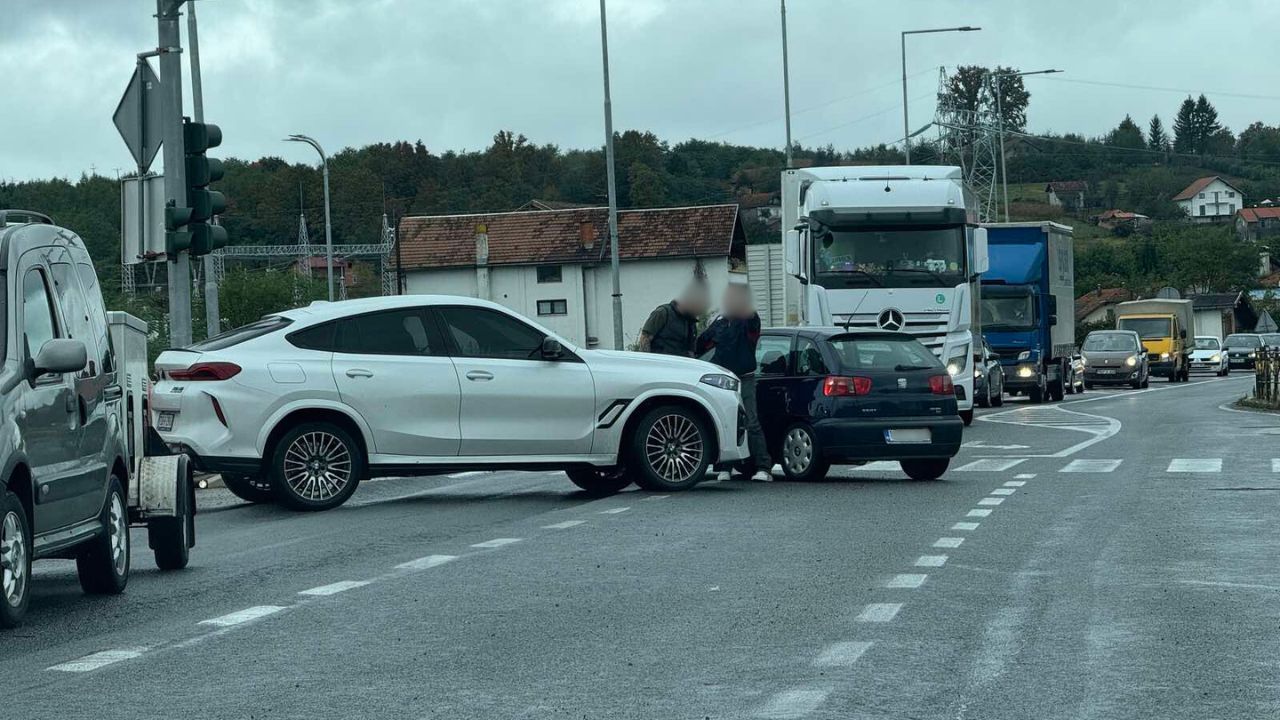
{"label": "overcast grey sky above the wooded hills", "polygon": [[[155,46],[154,13],[0,0],[0,178],[132,167],[111,113]],[[330,152],[479,150],[503,128],[603,142],[598,0],[200,0],[198,14],[223,156],[310,161],[279,142],[292,132]],[[1169,124],[1185,94],[1094,82],[1203,91],[1235,132],[1280,122],[1276,0],[790,0],[787,19],[804,145],[900,137],[899,31],[959,24],[983,29],[908,38],[913,128],[933,114],[938,65],[957,64],[1065,69],[1028,78],[1033,131],[1101,135],[1125,113]],[[609,53],[616,128],[783,145],[778,0],[609,0]]]}

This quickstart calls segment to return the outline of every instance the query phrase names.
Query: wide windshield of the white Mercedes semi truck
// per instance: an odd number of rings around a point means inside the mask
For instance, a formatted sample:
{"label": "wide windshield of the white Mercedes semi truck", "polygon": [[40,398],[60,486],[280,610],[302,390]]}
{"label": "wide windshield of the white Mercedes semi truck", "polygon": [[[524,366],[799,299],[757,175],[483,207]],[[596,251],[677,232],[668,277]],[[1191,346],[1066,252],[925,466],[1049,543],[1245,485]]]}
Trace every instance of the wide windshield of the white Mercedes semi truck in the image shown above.
{"label": "wide windshield of the white Mercedes semi truck", "polygon": [[954,287],[965,278],[964,227],[813,231],[814,279],[823,287]]}

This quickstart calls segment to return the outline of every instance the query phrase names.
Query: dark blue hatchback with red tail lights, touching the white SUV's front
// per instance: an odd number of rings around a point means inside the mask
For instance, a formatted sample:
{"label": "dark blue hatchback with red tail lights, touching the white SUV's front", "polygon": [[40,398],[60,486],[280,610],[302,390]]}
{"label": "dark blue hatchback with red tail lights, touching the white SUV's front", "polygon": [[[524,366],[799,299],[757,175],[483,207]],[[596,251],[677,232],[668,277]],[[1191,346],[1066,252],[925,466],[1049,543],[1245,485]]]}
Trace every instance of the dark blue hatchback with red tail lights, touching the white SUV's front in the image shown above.
{"label": "dark blue hatchback with red tail lights, touching the white SUV's front", "polygon": [[760,424],[787,478],[896,460],[909,477],[932,480],[960,451],[951,377],[908,334],[769,328],[755,356]]}

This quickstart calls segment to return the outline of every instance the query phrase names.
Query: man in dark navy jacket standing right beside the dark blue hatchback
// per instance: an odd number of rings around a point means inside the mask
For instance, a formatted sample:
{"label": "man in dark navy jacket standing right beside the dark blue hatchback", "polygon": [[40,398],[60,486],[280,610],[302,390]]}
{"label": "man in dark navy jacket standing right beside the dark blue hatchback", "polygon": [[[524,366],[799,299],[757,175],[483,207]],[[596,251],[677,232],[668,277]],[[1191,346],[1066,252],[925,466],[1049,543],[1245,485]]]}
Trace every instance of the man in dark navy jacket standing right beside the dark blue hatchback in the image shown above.
{"label": "man in dark navy jacket standing right beside the dark blue hatchback", "polygon": [[[698,356],[712,351],[710,361],[737,375],[741,383],[742,409],[746,411],[746,445],[755,465],[753,480],[771,482],[773,460],[764,442],[760,415],[755,407],[755,346],[760,342],[760,316],[751,307],[751,293],[742,283],[724,288],[721,315],[698,336]],[[728,468],[719,469],[719,479],[730,478]]]}

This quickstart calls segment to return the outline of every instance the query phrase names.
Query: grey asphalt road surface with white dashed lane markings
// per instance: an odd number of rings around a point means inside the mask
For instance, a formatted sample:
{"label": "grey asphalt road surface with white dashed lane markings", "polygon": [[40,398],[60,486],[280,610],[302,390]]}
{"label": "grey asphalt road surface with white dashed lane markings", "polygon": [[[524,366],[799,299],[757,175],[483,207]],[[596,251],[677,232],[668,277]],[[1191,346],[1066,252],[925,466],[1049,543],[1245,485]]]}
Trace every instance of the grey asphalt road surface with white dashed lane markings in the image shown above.
{"label": "grey asphalt road surface with white dashed lane markings", "polygon": [[37,566],[0,717],[1276,717],[1280,418],[1220,409],[1248,383],[1006,402],[936,483],[205,491],[186,571],[142,534],[120,597]]}

